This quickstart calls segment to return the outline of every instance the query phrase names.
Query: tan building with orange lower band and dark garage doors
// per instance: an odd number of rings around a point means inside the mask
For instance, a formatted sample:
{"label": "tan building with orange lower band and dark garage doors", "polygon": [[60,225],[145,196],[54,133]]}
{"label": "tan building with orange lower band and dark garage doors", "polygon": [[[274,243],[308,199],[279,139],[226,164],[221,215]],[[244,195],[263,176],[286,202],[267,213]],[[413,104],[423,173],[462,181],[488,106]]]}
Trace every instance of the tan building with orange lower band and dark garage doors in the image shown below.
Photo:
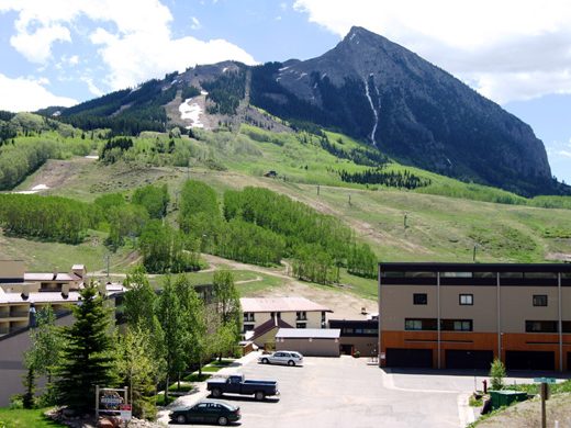
{"label": "tan building with orange lower band and dark garage doors", "polygon": [[571,369],[571,264],[380,263],[379,313],[381,365]]}

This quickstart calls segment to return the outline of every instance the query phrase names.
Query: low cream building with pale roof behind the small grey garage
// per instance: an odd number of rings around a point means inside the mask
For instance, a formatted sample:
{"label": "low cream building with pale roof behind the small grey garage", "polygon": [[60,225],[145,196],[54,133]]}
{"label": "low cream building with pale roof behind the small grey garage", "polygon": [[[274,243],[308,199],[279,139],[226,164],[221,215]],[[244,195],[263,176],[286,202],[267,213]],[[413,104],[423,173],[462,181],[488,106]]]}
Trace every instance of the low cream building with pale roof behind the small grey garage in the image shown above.
{"label": "low cream building with pale roof behind the small grey garage", "polygon": [[325,328],[328,307],[304,297],[240,299],[244,335],[265,347],[273,343],[279,328]]}

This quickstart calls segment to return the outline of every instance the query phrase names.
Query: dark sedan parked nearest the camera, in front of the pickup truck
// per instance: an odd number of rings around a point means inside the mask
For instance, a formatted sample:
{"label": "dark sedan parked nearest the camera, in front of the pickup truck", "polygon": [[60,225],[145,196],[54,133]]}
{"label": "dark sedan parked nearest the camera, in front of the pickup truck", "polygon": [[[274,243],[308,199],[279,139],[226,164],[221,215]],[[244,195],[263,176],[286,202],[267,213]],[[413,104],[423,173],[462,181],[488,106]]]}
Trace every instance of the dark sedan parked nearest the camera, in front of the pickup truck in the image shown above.
{"label": "dark sedan parked nearest the camera, in front of the pickup truck", "polygon": [[178,424],[228,425],[242,418],[239,407],[222,399],[203,399],[191,407],[176,408],[169,414]]}

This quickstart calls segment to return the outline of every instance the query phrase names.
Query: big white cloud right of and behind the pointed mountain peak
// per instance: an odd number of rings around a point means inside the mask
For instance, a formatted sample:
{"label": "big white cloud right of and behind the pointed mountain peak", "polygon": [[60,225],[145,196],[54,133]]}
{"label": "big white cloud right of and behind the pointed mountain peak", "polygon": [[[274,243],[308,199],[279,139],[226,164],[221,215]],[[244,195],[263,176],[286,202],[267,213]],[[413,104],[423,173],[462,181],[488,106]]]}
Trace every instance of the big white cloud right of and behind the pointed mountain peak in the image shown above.
{"label": "big white cloud right of and behind the pointed mountain peak", "polygon": [[571,93],[568,0],[296,0],[344,36],[360,25],[469,81],[497,102]]}

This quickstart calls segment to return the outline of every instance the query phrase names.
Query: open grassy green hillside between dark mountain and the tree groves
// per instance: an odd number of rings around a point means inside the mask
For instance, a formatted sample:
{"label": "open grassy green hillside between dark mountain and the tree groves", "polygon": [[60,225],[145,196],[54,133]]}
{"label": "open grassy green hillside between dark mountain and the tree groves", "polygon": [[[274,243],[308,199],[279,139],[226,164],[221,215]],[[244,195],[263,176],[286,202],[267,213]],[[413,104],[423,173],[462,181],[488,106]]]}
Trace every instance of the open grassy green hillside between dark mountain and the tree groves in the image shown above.
{"label": "open grassy green hillside between dark mountain and the tree groves", "polygon": [[[220,195],[227,189],[255,185],[302,201],[350,225],[380,260],[471,261],[474,246],[477,261],[542,262],[571,255],[570,212],[533,206],[569,206],[569,198],[526,200],[390,161],[383,171],[406,170],[429,184],[406,190],[344,182],[340,170],[359,172],[371,166],[351,160],[359,160],[363,146],[333,133],[325,135],[345,158],[324,149],[323,136],[306,133],[275,134],[243,125],[238,133],[194,135],[143,133],[114,162],[82,157],[49,160],[16,190],[47,184],[46,194],[90,202],[102,193],[128,195],[144,184],[166,183],[171,193],[167,218],[175,223],[179,191],[190,177],[212,185]],[[16,145],[30,138],[37,136],[16,137]],[[66,140],[60,135],[57,139]],[[101,154],[104,139],[92,144]],[[277,177],[264,177],[269,171]],[[15,249],[19,243],[4,241],[2,252],[22,252]],[[104,250],[98,252],[91,257],[100,258]]]}

